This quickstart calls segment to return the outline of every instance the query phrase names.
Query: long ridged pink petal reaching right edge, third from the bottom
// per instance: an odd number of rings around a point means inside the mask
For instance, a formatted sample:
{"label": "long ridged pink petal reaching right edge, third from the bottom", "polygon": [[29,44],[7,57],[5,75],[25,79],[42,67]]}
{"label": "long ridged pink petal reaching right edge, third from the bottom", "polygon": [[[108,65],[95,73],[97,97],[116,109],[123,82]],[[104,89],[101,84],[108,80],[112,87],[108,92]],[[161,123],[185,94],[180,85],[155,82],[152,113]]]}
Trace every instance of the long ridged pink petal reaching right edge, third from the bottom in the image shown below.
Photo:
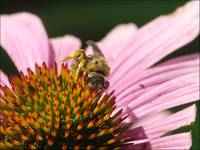
{"label": "long ridged pink petal reaching right edge, third from the bottom", "polygon": [[199,99],[198,74],[189,74],[168,81],[153,88],[129,103],[133,119],[154,114],[171,107],[190,103]]}

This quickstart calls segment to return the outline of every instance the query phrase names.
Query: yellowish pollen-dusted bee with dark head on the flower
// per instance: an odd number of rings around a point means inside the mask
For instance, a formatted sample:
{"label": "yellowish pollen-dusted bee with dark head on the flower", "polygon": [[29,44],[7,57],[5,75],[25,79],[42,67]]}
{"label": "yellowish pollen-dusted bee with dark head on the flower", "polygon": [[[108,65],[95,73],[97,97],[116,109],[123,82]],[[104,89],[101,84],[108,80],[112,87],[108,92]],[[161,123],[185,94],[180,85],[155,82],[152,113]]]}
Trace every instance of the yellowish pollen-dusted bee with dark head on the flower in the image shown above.
{"label": "yellowish pollen-dusted bee with dark head on the flower", "polygon": [[62,62],[73,59],[71,74],[77,80],[80,73],[87,73],[86,82],[89,87],[95,90],[107,90],[109,82],[106,80],[110,73],[110,67],[97,44],[87,41],[87,45],[92,47],[93,55],[86,55],[84,49],[72,52]]}

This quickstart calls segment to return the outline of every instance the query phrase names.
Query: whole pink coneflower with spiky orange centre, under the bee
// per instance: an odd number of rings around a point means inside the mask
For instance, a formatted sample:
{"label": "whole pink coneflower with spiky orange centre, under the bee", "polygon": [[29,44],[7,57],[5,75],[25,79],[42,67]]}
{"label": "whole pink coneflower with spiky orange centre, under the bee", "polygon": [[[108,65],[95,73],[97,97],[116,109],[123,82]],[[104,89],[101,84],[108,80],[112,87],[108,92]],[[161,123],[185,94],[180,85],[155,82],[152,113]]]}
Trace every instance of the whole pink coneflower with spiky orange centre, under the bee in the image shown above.
{"label": "whole pink coneflower with spiky orange centre, under the bee", "polygon": [[166,110],[199,99],[199,54],[154,64],[198,34],[198,1],[140,29],[115,27],[97,43],[111,68],[102,93],[56,64],[79,39],[48,39],[33,14],[1,15],[1,46],[19,75],[1,72],[0,149],[189,149],[190,132],[170,133],[194,122],[195,105]]}

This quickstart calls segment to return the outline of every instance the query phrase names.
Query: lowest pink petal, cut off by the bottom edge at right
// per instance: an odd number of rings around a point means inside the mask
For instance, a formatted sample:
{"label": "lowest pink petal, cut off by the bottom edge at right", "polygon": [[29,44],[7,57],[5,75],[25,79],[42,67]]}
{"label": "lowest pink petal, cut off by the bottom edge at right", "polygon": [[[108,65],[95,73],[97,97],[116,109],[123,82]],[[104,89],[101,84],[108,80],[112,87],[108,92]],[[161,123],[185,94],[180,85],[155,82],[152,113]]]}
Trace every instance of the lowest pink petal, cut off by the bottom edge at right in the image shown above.
{"label": "lowest pink petal, cut off by the bottom edge at right", "polygon": [[151,147],[154,150],[171,149],[171,150],[186,150],[192,145],[191,133],[181,133],[171,136],[166,136],[151,141]]}

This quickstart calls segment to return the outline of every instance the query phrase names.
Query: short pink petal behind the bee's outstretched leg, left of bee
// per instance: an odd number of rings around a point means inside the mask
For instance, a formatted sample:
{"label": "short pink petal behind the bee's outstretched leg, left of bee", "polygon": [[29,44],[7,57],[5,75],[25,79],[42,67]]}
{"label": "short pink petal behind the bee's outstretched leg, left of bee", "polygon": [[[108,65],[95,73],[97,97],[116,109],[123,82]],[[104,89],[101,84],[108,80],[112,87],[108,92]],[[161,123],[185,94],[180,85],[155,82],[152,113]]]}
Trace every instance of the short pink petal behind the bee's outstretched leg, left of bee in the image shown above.
{"label": "short pink petal behind the bee's outstretched leg, left of bee", "polygon": [[[66,58],[72,51],[77,50],[81,46],[81,41],[71,35],[57,37],[50,40],[52,53],[55,55],[51,63],[61,61]],[[55,60],[54,60],[55,58]]]}

